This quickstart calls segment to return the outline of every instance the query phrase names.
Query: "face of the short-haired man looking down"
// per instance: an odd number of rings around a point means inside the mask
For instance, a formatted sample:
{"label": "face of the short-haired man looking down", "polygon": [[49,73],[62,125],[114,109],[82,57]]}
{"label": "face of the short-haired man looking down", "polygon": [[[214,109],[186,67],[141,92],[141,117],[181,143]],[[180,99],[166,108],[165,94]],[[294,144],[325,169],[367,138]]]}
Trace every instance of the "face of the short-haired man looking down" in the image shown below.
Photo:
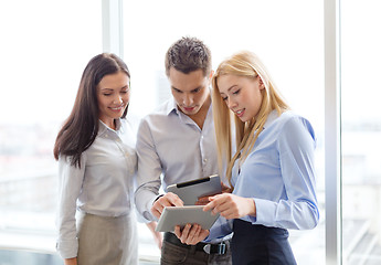
{"label": "face of the short-haired man looking down", "polygon": [[202,70],[184,74],[171,67],[169,82],[173,98],[183,114],[195,115],[209,102],[210,76],[204,76]]}

